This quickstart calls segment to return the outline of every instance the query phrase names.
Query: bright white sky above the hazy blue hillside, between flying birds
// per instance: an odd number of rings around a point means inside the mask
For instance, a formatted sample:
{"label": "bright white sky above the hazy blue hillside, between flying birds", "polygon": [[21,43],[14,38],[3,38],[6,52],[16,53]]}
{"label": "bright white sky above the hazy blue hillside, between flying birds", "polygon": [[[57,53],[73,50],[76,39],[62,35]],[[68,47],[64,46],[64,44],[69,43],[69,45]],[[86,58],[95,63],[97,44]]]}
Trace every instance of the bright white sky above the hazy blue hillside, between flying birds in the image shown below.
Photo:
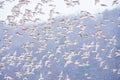
{"label": "bright white sky above the hazy blue hillside, between flying birds", "polygon": [[[4,8],[0,9],[0,19],[1,20],[6,20],[6,17],[8,15],[11,15],[11,9],[13,6],[18,4],[18,1],[19,0],[15,0],[13,2],[5,2],[5,5],[3,6]],[[88,11],[94,15],[98,12],[102,13],[105,10],[113,10],[113,9],[119,7],[119,4],[112,6],[113,1],[114,0],[100,0],[100,3],[98,3],[97,5],[94,5],[95,0],[80,0],[80,5],[76,5],[74,7],[68,7],[68,6],[66,6],[64,0],[54,0],[53,2],[43,4],[42,9],[43,9],[43,12],[45,12],[45,15],[37,15],[36,17],[39,17],[41,20],[48,19],[49,11],[53,8],[53,7],[49,7],[48,4],[56,5],[55,10],[57,12],[60,12],[60,15],[54,15],[56,17],[56,16],[62,16],[62,15],[69,16],[69,15],[73,15],[73,14],[79,14],[79,12],[81,10]],[[35,8],[35,5],[39,2],[40,2],[40,0],[31,0],[30,4],[28,4],[26,6],[22,6],[20,11],[23,13],[24,13],[25,9],[29,9],[29,10],[33,11]],[[107,7],[100,6],[100,4],[106,4]],[[17,20],[19,21],[19,19],[21,19],[21,18],[22,17],[19,16],[19,18]]]}

